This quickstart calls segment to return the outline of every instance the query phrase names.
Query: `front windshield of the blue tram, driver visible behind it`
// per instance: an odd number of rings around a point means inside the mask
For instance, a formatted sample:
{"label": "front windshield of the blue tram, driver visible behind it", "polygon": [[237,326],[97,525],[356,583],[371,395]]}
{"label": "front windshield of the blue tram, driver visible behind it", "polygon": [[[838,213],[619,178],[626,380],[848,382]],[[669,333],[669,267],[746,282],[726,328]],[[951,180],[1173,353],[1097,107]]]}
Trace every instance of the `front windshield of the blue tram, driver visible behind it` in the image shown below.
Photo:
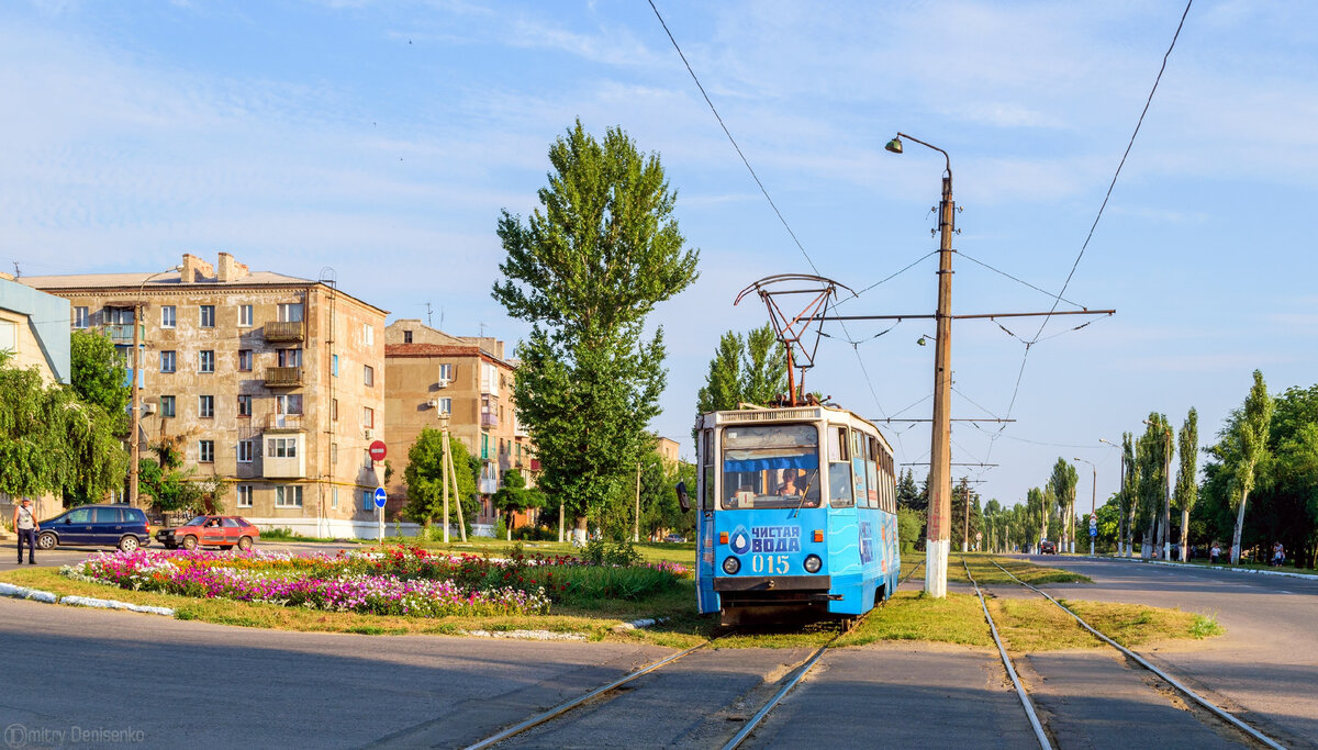
{"label": "front windshield of the blue tram, driver visible behind it", "polygon": [[724,430],[725,510],[820,506],[820,434],[813,424]]}

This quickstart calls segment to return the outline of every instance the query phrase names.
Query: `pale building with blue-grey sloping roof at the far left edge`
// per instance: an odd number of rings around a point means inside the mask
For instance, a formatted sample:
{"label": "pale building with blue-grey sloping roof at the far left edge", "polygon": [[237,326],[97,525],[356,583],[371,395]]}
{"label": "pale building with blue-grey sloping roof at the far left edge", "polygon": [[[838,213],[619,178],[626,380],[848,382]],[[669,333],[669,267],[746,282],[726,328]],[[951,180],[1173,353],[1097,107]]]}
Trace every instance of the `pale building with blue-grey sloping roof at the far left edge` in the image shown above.
{"label": "pale building with blue-grey sloping roof at the far left edge", "polygon": [[47,382],[69,382],[69,301],[0,273],[0,351],[9,364],[36,366]]}

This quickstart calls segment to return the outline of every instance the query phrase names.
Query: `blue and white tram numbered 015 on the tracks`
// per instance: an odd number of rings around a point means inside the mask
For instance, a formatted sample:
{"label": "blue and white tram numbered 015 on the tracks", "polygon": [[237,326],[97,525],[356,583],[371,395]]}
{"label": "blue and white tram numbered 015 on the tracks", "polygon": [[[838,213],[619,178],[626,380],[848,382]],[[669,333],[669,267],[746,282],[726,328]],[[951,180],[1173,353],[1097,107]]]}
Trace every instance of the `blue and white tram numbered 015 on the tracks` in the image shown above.
{"label": "blue and white tram numbered 015 on the tracks", "polygon": [[696,422],[696,591],[724,625],[850,618],[900,568],[892,448],[829,406],[714,411]]}

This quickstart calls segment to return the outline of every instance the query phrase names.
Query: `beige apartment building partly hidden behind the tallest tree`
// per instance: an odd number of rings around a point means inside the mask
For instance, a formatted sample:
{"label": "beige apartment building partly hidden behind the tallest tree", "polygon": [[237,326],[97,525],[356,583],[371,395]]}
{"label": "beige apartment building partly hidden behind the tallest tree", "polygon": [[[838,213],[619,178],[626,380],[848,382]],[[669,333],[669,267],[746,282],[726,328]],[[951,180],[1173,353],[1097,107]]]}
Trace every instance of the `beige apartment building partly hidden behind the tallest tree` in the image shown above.
{"label": "beige apartment building partly hidden behind the tallest tree", "polygon": [[489,533],[497,521],[489,496],[502,486],[503,473],[515,468],[534,485],[540,468],[513,409],[517,362],[506,359],[503,341],[451,336],[416,319],[395,320],[385,330],[385,362],[386,443],[394,468],[385,488],[390,507],[407,501],[409,448],[424,427],[439,428],[439,415],[448,414],[449,435],[482,461],[476,531]]}

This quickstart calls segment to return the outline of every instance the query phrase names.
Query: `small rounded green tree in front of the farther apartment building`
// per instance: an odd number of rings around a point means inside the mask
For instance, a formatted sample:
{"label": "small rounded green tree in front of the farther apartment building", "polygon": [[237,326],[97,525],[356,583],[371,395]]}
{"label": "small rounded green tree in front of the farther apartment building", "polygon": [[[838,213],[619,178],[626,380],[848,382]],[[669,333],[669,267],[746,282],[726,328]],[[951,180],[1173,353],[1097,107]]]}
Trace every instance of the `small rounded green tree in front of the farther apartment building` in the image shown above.
{"label": "small rounded green tree in front of the farther apartment building", "polygon": [[[449,492],[449,523],[457,521],[456,502],[463,504],[463,521],[471,531],[471,525],[478,511],[476,502],[476,473],[472,471],[472,456],[467,446],[449,435],[448,449],[452,453],[453,473],[457,476],[457,494],[452,497]],[[477,459],[477,472],[480,471]],[[444,434],[434,427],[426,427],[416,435],[416,442],[407,449],[407,468],[403,471],[403,481],[407,484],[407,507],[405,514],[411,521],[426,527],[430,535],[430,525],[435,518],[444,515],[444,482],[448,472],[444,471]]]}

